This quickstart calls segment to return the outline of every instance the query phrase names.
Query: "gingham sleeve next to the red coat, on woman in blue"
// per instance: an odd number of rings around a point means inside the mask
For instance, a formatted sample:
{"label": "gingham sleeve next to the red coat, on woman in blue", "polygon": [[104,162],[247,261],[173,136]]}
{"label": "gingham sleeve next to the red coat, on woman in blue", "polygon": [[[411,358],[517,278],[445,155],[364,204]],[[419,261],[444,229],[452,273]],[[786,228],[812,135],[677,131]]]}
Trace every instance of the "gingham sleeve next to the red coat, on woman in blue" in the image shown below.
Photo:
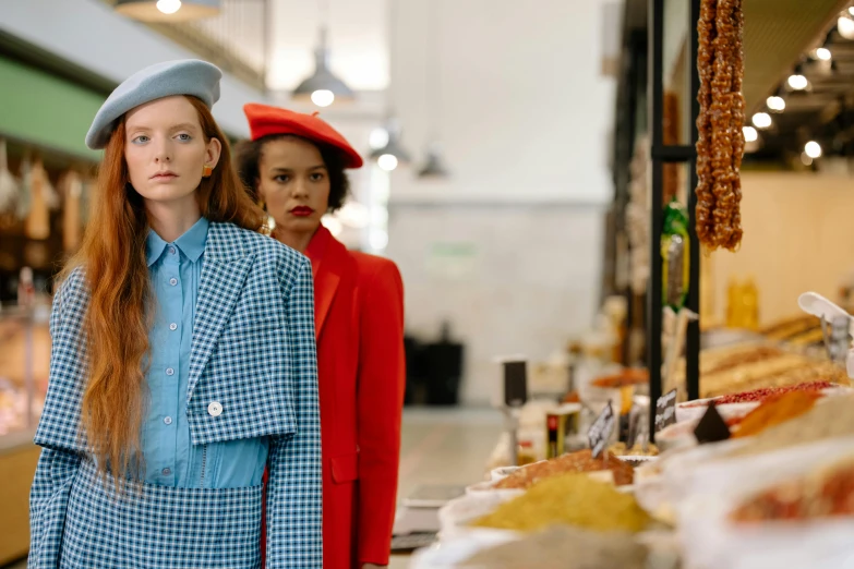
{"label": "gingham sleeve next to the red coat, on woman in blue", "polygon": [[[270,441],[266,568],[323,566],[321,414],[314,343],[314,287],[306,258],[286,294],[287,344],[297,428]],[[288,403],[284,403],[288,404]]]}

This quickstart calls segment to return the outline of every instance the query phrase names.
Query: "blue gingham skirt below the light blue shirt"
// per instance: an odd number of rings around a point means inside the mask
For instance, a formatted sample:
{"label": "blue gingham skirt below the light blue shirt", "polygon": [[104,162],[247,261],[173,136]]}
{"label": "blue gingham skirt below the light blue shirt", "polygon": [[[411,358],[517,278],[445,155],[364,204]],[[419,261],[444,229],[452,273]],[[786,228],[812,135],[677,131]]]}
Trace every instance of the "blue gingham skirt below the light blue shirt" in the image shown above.
{"label": "blue gingham skirt below the light blue shirt", "polygon": [[118,497],[89,460],[69,496],[61,568],[261,566],[262,486],[128,486]]}

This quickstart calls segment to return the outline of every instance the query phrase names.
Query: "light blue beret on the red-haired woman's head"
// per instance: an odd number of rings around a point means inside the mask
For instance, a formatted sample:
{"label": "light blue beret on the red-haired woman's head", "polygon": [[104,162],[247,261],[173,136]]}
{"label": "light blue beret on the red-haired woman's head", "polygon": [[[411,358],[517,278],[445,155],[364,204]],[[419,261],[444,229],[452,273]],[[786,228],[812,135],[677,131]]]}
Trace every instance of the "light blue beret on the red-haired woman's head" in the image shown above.
{"label": "light blue beret on the red-haired woman's head", "polygon": [[116,87],[104,101],[89,132],[86,146],[98,150],[107,146],[116,128],[116,121],[125,112],[153,100],[175,95],[192,95],[202,99],[207,108],[219,100],[219,68],[197,59],[164,61],[137,71]]}

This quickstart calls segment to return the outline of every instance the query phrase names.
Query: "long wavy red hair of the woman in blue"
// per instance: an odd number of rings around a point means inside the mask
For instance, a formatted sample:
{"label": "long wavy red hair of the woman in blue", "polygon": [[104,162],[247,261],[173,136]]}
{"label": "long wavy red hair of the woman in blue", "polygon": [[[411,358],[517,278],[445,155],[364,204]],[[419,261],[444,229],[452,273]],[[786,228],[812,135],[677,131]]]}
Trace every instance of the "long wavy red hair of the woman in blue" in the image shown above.
{"label": "long wavy red hair of the woman in blue", "polygon": [[[208,108],[187,97],[199,113],[205,142],[222,144],[219,162],[196,191],[202,215],[257,231],[264,213],[243,191],[231,149]],[[98,194],[83,245],[64,269],[84,266],[91,299],[85,317],[88,383],[82,427],[101,470],[117,483],[142,469],[141,428],[148,392],[144,361],[154,311],[145,258],[148,219],[143,197],[130,183],[124,161],[124,118],[119,121],[98,171]]]}

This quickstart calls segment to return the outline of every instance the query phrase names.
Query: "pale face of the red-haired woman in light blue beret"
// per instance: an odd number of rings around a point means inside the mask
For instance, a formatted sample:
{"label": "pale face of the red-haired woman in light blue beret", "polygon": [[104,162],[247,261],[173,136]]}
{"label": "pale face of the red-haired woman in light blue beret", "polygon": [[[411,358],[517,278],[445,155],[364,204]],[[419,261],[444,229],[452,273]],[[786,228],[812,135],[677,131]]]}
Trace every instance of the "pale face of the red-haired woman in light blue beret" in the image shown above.
{"label": "pale face of the red-haired woman in light blue beret", "polygon": [[147,202],[194,199],[205,166],[215,168],[222,149],[205,141],[199,113],[183,96],[136,107],[124,122],[124,160],[131,184]]}

